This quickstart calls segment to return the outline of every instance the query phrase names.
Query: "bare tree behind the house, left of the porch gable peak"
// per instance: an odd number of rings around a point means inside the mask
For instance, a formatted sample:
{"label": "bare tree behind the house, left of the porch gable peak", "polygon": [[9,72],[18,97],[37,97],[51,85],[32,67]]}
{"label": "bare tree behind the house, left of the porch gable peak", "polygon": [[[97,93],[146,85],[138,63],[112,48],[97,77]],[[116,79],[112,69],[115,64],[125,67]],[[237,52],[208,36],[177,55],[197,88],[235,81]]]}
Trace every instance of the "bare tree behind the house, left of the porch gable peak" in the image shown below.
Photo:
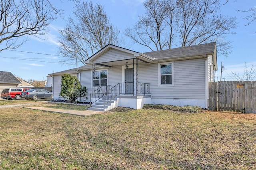
{"label": "bare tree behind the house, left of the porch gable peak", "polygon": [[73,14],[74,18],[70,17],[67,26],[59,31],[59,52],[67,58],[64,63],[74,63],[76,59],[84,63],[109,43],[119,44],[120,29],[110,23],[102,5],[82,2],[76,6]]}

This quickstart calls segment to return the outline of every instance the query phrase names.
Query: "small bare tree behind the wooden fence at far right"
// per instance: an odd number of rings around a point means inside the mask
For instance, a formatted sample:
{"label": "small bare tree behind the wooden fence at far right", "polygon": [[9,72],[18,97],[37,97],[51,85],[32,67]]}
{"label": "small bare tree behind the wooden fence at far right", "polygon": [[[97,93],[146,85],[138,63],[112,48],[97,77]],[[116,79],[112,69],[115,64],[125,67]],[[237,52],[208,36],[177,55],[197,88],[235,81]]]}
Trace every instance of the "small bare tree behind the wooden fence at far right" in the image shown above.
{"label": "small bare tree behind the wooden fence at far right", "polygon": [[239,73],[231,72],[234,79],[238,81],[252,81],[256,77],[256,66],[252,64],[251,67],[247,66],[247,63],[244,62],[244,74],[239,75]]}

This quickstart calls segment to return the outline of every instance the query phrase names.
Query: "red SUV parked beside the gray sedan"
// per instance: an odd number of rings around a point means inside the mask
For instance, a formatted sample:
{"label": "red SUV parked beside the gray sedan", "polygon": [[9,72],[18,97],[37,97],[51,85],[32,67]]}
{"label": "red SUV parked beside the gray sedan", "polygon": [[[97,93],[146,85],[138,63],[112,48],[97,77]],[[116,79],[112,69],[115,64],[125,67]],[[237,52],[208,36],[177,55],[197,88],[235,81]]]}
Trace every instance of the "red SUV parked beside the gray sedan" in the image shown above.
{"label": "red SUV parked beside the gray sedan", "polygon": [[22,87],[15,87],[15,88],[5,88],[2,93],[1,93],[1,98],[2,99],[7,99],[7,100],[20,100],[20,94],[21,92],[25,92],[31,88],[22,88]]}

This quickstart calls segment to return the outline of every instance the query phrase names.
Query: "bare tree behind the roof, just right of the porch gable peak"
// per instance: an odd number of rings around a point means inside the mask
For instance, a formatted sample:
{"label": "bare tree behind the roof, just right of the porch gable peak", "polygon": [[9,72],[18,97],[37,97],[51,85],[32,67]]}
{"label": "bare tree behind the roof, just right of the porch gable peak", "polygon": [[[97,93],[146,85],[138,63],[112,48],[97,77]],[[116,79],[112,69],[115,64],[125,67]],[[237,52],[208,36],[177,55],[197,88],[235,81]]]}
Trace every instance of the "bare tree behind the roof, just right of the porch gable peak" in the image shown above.
{"label": "bare tree behind the roof, just right of the porch gable peak", "polygon": [[[126,37],[148,47],[150,50],[162,50],[171,47],[173,18],[176,6],[169,0],[148,0],[144,2],[146,14],[132,28],[125,30]],[[172,2],[173,3],[173,2]]]}

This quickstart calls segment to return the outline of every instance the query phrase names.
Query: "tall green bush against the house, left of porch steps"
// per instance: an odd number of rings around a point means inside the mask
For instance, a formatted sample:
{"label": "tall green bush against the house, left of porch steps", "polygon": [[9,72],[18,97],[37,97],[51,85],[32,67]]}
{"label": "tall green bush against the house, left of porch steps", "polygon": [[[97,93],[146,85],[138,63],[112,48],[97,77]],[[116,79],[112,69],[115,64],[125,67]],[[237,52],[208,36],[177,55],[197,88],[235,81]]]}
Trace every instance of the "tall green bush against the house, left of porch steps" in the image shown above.
{"label": "tall green bush against the house, left of porch steps", "polygon": [[82,87],[78,78],[70,74],[63,74],[61,76],[61,89],[59,96],[69,100],[71,103],[75,103],[78,97],[86,97],[87,89]]}

